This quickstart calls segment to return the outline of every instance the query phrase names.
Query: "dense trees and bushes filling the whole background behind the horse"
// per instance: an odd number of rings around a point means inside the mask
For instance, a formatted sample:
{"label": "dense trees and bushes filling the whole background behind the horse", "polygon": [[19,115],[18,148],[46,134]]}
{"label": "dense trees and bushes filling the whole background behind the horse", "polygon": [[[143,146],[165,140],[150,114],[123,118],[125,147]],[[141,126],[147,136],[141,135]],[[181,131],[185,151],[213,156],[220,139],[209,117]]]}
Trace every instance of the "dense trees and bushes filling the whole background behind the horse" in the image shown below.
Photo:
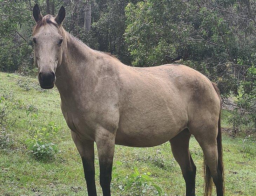
{"label": "dense trees and bushes filling the whole background behind the horse", "polygon": [[125,64],[155,66],[181,59],[218,83],[235,131],[255,128],[256,1],[0,0],[0,71],[36,74],[34,3],[43,15],[65,5],[68,32]]}

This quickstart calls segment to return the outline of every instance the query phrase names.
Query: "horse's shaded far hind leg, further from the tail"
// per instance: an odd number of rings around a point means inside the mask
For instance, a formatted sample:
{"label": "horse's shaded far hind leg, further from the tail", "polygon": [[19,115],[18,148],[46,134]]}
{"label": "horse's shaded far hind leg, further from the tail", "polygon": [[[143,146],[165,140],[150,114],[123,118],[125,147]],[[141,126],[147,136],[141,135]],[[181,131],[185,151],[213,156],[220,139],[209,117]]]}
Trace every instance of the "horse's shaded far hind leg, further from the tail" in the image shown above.
{"label": "horse's shaded far hind leg, further from the tail", "polygon": [[196,166],[189,152],[189,139],[191,134],[188,129],[170,140],[171,151],[175,160],[181,167],[182,175],[186,182],[186,196],[195,196]]}

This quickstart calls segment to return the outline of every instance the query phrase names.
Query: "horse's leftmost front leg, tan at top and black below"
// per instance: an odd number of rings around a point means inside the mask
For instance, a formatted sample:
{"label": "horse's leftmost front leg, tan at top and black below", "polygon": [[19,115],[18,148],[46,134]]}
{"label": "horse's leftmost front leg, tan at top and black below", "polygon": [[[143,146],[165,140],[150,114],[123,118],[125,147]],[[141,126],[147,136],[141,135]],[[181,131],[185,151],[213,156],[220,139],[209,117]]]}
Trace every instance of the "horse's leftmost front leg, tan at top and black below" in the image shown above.
{"label": "horse's leftmost front leg, tan at top and black below", "polygon": [[71,131],[71,135],[82,158],[88,196],[97,196],[94,169],[94,141],[81,140],[73,131]]}

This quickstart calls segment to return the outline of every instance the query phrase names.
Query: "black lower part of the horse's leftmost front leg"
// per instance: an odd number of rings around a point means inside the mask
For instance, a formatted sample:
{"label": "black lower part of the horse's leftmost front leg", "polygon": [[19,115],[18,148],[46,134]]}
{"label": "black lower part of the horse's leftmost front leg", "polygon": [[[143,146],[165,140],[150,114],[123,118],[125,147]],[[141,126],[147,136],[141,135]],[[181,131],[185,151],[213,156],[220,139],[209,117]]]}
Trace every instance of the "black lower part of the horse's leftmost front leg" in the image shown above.
{"label": "black lower part of the horse's leftmost front leg", "polygon": [[85,180],[87,185],[88,196],[97,196],[95,186],[95,170],[94,164],[88,162],[82,157],[83,171],[85,172]]}

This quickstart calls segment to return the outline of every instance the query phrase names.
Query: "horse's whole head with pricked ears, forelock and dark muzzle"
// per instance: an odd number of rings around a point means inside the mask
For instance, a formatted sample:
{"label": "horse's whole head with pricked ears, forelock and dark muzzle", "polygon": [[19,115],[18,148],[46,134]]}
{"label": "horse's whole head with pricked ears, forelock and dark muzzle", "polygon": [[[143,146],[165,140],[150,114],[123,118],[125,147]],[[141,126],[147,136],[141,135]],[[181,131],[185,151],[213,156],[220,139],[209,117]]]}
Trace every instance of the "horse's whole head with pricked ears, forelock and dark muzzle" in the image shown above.
{"label": "horse's whole head with pricked ears, forelock and dark muzzle", "polygon": [[39,69],[38,80],[43,89],[54,87],[55,71],[62,61],[66,37],[61,23],[65,15],[63,6],[55,18],[51,15],[43,17],[37,4],[33,8],[33,17],[36,21],[33,30],[34,60]]}

